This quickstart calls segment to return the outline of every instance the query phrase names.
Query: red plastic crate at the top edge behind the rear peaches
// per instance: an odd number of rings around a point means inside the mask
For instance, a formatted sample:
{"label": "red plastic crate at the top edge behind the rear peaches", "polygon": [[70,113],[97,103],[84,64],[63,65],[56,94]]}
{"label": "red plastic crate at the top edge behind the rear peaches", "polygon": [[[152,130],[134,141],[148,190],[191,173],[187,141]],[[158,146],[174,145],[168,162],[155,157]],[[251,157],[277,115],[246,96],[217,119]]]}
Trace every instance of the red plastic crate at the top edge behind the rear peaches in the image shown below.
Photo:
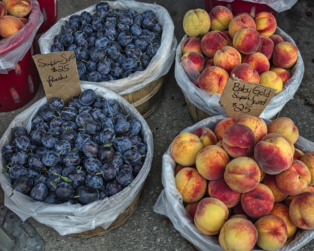
{"label": "red plastic crate at the top edge behind the rear peaches", "polygon": [[273,16],[276,15],[276,11],[270,8],[265,3],[252,3],[242,0],[234,0],[232,2],[225,2],[225,1],[218,1],[218,0],[204,0],[205,10],[209,13],[212,8],[218,5],[222,5],[225,7],[228,7],[233,15],[236,15],[238,13],[247,12],[247,13],[254,13],[252,16],[254,16],[256,13],[259,12],[269,12],[272,13]]}

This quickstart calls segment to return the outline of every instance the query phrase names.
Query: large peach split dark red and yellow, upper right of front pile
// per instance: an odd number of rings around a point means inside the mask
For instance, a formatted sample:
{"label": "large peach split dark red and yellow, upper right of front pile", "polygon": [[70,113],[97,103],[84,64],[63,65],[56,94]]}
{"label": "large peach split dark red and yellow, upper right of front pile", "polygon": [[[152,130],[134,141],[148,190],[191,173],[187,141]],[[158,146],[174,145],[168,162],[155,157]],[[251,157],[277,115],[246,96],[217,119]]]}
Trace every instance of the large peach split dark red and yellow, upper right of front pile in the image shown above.
{"label": "large peach split dark red and yellow, upper right of front pile", "polygon": [[257,142],[254,148],[254,157],[265,173],[279,174],[291,166],[293,151],[284,138],[273,137]]}

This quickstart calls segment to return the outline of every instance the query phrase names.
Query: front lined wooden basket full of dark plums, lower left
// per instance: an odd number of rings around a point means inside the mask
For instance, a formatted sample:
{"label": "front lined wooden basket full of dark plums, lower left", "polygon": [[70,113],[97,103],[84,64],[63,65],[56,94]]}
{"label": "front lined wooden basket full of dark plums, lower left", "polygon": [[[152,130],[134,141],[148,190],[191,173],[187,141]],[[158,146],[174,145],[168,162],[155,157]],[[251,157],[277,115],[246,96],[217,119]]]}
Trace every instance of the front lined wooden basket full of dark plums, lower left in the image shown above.
{"label": "front lined wooden basket full of dark plums, lower left", "polygon": [[22,221],[33,217],[61,235],[90,238],[136,210],[153,137],[120,95],[81,89],[68,104],[44,97],[14,118],[0,140],[0,182],[5,206]]}

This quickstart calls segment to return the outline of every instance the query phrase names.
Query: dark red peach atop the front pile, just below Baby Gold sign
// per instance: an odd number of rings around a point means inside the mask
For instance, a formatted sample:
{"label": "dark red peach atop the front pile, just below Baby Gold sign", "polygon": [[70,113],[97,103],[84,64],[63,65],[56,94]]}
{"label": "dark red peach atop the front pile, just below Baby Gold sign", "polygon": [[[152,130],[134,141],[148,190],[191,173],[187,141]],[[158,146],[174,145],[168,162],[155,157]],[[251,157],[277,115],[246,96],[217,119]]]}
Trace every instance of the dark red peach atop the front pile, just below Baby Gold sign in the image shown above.
{"label": "dark red peach atop the front pile, just below Baby Gold sign", "polygon": [[255,147],[254,132],[247,125],[235,123],[225,130],[222,145],[232,158],[248,157]]}

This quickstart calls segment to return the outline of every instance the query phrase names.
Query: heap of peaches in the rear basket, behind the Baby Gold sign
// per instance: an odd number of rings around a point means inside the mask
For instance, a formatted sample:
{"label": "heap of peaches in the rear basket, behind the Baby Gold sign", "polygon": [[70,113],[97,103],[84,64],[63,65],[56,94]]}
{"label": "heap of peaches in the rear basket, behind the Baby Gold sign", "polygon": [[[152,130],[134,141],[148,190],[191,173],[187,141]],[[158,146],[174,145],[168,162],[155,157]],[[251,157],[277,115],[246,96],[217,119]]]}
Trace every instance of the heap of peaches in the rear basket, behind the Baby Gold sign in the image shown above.
{"label": "heap of peaches in the rear basket, behind the Baby Gold sign", "polygon": [[209,13],[189,10],[183,18],[188,37],[181,45],[181,61],[190,59],[200,72],[194,84],[221,94],[229,77],[260,83],[279,93],[291,77],[298,48],[274,34],[275,17],[268,12],[239,13],[225,6]]}

